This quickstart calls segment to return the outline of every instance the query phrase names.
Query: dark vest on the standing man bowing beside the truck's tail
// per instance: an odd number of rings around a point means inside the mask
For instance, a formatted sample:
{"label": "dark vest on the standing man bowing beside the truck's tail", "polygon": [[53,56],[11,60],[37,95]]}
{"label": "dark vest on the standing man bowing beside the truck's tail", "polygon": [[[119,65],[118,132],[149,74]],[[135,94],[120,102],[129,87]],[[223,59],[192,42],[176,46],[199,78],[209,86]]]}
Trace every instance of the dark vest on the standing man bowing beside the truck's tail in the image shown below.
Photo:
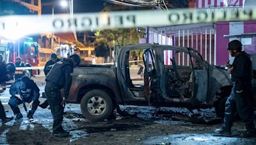
{"label": "dark vest on the standing man bowing beside the truck's tail", "polygon": [[65,83],[65,70],[63,70],[65,66],[70,66],[70,68],[72,68],[71,72],[73,72],[72,62],[61,60],[52,66],[51,71],[49,74],[47,74],[45,81],[51,81],[52,83],[58,85],[59,88],[62,88]]}

